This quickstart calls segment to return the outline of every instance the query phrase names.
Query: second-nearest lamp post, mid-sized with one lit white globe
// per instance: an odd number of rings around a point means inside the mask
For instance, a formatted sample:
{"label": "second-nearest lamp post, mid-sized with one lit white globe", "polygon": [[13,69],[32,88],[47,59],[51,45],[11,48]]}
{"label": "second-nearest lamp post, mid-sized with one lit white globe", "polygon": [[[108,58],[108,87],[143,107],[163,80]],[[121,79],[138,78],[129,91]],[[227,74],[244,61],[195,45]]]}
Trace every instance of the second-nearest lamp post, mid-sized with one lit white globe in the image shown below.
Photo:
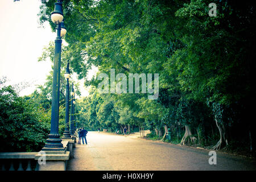
{"label": "second-nearest lamp post, mid-sized with one lit white globe", "polygon": [[70,78],[70,72],[69,72],[69,61],[67,64],[66,72],[64,73],[65,78],[67,78],[67,84],[66,84],[66,105],[65,105],[65,131],[63,133],[63,138],[71,138],[71,135],[69,133],[69,78]]}

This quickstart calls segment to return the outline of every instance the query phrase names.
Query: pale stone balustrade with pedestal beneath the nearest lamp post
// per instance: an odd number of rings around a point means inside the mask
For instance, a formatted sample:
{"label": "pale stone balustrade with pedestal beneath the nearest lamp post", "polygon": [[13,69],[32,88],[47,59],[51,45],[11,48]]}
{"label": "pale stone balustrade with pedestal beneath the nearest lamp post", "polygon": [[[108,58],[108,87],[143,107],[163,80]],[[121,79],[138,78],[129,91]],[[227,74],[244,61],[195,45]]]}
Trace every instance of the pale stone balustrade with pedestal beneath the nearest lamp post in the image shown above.
{"label": "pale stone balustrade with pedestal beneath the nearest lamp post", "polygon": [[[0,152],[1,171],[65,171],[67,162],[73,158],[75,141],[64,139],[65,151]],[[42,161],[45,160],[45,163]]]}

